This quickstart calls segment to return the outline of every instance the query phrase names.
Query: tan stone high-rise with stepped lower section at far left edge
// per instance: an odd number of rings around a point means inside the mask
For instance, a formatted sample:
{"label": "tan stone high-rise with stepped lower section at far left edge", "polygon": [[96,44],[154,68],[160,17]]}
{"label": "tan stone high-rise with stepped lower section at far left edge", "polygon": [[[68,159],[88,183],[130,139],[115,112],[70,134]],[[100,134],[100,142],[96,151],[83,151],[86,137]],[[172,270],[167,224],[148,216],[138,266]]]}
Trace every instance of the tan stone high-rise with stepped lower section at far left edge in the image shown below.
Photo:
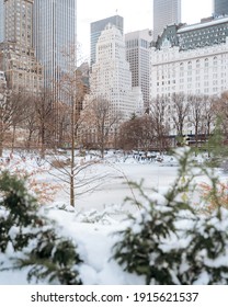
{"label": "tan stone high-rise with stepped lower section at far left edge", "polygon": [[0,0],[0,70],[10,89],[38,92],[43,86],[32,31],[33,0]]}

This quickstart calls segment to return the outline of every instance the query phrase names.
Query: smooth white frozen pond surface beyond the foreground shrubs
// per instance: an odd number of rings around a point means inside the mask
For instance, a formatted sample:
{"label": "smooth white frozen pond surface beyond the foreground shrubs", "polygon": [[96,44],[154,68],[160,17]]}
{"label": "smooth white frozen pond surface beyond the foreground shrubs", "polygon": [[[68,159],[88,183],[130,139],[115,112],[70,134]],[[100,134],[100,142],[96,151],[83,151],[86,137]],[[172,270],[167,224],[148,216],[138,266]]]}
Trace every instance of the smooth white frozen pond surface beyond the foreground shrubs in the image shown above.
{"label": "smooth white frozen pond surface beyond the foreground shrubs", "polygon": [[[101,172],[107,167],[101,167]],[[102,185],[92,194],[86,194],[77,201],[77,209],[102,209],[104,206],[122,205],[126,197],[138,197],[138,191],[132,190],[128,182],[139,183],[144,180],[145,191],[162,190],[170,186],[176,174],[176,167],[160,164],[115,164]],[[133,195],[134,193],[134,195]],[[126,205],[125,205],[126,206]],[[126,206],[129,208],[129,206]]]}

